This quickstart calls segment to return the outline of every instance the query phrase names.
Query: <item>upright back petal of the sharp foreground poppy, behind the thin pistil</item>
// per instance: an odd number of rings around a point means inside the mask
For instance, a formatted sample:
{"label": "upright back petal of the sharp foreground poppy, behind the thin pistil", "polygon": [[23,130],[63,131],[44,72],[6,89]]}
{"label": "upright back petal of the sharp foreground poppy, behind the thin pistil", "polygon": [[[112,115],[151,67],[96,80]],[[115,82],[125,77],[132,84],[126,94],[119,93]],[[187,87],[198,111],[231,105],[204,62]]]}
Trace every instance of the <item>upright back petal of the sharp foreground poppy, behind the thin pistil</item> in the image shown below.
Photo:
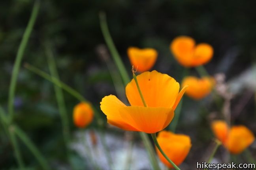
{"label": "upright back petal of the sharp foreground poppy, behind the thin pistil", "polygon": [[[137,76],[139,87],[148,107],[171,108],[179,92],[175,79],[156,70],[143,72]],[[132,106],[143,106],[134,79],[126,85],[126,96]]]}

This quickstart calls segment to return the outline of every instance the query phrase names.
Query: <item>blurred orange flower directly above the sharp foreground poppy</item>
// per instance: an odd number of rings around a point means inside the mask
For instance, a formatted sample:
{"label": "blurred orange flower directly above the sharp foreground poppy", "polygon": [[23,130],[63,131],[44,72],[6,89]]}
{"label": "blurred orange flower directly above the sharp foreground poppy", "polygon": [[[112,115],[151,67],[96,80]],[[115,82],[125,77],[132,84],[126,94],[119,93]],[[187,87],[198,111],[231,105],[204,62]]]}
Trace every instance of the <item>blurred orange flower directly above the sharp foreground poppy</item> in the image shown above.
{"label": "blurred orange flower directly above the sharp foreground poppy", "polygon": [[157,51],[153,48],[139,49],[130,47],[127,50],[128,57],[134,68],[138,68],[139,72],[149,71],[156,63]]}

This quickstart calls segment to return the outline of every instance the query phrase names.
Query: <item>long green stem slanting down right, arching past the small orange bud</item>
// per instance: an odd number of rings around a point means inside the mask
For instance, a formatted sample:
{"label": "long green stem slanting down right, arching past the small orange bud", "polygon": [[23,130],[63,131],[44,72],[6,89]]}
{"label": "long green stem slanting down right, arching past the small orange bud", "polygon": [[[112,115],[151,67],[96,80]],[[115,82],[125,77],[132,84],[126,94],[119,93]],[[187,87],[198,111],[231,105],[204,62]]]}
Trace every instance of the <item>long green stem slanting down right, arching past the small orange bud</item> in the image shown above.
{"label": "long green stem slanting down right, arching past the small orange bud", "polygon": [[[75,91],[70,86],[68,86],[65,83],[63,83],[62,81],[60,81],[59,79],[50,76],[49,74],[41,71],[40,69],[38,69],[38,68],[36,68],[32,65],[25,64],[24,67],[27,68],[28,70],[30,70],[31,72],[34,72],[38,76],[41,76],[42,78],[47,79],[48,81],[52,82],[54,85],[57,85],[58,87],[62,88],[63,90],[65,90],[66,92],[71,94],[73,97],[77,98],[77,100],[79,100],[81,102],[88,102],[79,92]],[[105,155],[106,155],[108,160],[111,160],[109,150],[107,148],[107,145],[105,144],[104,133],[102,131],[104,122],[103,122],[102,118],[100,117],[100,114],[98,113],[98,111],[94,107],[93,107],[93,110],[94,110],[94,113],[95,113],[97,124],[100,127],[99,135],[100,135],[100,138],[102,139],[102,144],[103,144],[103,147],[104,147]],[[111,161],[109,161],[109,163],[111,163]],[[111,164],[109,166],[111,166]]]}

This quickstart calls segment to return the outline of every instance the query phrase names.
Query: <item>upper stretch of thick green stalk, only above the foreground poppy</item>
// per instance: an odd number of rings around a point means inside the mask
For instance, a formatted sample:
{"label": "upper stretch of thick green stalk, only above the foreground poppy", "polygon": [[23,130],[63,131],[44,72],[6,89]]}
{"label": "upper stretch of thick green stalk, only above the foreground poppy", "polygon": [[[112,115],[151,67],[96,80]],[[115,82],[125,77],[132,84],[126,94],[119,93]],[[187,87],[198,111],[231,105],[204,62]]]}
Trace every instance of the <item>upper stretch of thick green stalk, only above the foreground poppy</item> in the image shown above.
{"label": "upper stretch of thick green stalk, only above the foreground poppy", "polygon": [[[129,76],[128,73],[126,72],[126,69],[124,67],[124,63],[122,63],[122,60],[117,52],[117,49],[115,48],[115,44],[111,38],[111,35],[109,33],[109,29],[107,27],[107,20],[106,20],[106,15],[104,12],[99,13],[100,17],[100,28],[102,30],[102,34],[104,36],[104,39],[107,43],[107,47],[109,48],[109,51],[120,71],[120,74],[122,76],[122,79],[124,81],[124,84],[126,85],[129,83]],[[127,81],[128,80],[128,81]]]}

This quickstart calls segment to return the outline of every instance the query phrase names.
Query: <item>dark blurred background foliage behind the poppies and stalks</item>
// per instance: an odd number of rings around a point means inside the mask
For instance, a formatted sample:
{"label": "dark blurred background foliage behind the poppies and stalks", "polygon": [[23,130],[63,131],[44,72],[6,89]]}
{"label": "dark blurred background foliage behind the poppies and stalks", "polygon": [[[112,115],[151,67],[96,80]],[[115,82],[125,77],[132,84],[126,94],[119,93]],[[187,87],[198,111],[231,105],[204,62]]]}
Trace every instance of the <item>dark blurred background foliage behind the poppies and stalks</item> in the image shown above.
{"label": "dark blurred background foliage behind the poppies and stalks", "polygon": [[[33,0],[0,1],[0,103],[5,109],[13,63],[33,4]],[[43,44],[50,42],[60,79],[81,92],[100,111],[101,99],[116,94],[109,70],[96,50],[105,43],[99,24],[100,11],[107,15],[111,36],[128,70],[131,69],[126,54],[129,46],[155,48],[159,55],[153,69],[181,82],[183,67],[173,58],[169,44],[179,35],[188,35],[198,43],[207,42],[213,46],[213,59],[205,68],[213,76],[217,73],[226,76],[227,85],[234,95],[230,101],[232,124],[244,124],[255,134],[255,6],[256,1],[253,0],[41,0],[40,12],[22,63],[49,73]],[[198,76],[193,68],[188,71],[190,75]],[[78,130],[72,123],[72,111],[79,101],[66,92],[64,99],[75,141]],[[221,101],[223,103],[224,100]],[[207,107],[207,111],[202,105]],[[211,150],[213,134],[209,122],[218,118],[218,112],[221,110],[212,101],[212,96],[200,101],[184,97],[176,130],[192,139],[192,149],[184,168],[195,167],[196,162],[207,155],[207,150]],[[105,115],[100,113],[105,119]],[[23,66],[15,95],[15,122],[53,167],[70,167],[54,86]],[[93,127],[96,127],[95,122],[89,129]],[[106,131],[113,138],[125,140],[121,130],[108,127]],[[136,136],[134,141],[141,142]],[[256,155],[255,144],[250,151]],[[39,168],[26,147],[21,147],[21,152],[29,167]],[[224,148],[217,155],[222,152]],[[87,166],[76,150],[72,151],[72,160],[79,164],[78,168]],[[15,167],[12,146],[1,127],[0,168]]]}

